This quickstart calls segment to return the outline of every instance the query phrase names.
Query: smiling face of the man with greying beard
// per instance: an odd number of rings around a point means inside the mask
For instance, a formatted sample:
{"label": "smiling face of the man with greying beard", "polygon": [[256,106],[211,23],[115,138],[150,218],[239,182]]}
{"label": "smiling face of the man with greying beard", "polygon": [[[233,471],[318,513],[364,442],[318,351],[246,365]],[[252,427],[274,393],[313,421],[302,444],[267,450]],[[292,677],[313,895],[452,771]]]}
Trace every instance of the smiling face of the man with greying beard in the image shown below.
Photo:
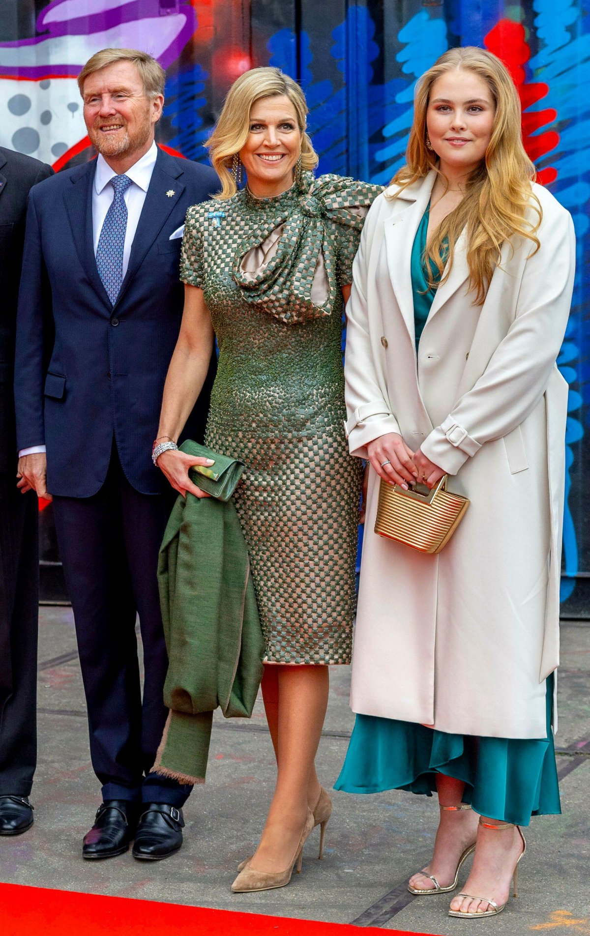
{"label": "smiling face of the man with greying beard", "polygon": [[84,122],[103,156],[125,156],[154,137],[164,98],[147,97],[132,62],[115,62],[84,80]]}

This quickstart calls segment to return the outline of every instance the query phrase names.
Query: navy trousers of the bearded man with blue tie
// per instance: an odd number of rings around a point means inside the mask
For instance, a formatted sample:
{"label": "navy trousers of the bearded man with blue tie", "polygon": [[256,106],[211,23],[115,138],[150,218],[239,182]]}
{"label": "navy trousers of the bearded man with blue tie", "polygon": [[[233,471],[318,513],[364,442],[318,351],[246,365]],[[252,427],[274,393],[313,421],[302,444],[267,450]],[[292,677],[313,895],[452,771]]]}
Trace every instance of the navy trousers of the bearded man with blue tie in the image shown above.
{"label": "navy trousers of the bearded man with blue tie", "polygon": [[[103,799],[180,807],[191,787],[150,773],[168,709],[168,667],[157,556],[175,491],[140,494],[113,444],[93,496],[54,497],[53,515],[74,611],[88,709],[90,753]],[[136,636],[140,619],[143,696]]]}

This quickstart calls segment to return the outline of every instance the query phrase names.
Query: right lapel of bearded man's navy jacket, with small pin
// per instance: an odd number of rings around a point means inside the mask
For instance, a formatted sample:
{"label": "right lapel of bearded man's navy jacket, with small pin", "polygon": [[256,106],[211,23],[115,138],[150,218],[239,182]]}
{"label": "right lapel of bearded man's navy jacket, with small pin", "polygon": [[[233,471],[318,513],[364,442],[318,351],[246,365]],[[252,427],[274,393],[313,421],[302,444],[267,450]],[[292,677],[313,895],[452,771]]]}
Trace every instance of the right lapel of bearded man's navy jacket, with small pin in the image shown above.
{"label": "right lapel of bearded man's navy jacket, with small pin", "polygon": [[[145,201],[141,209],[140,220],[131,245],[129,265],[125,279],[121,285],[116,305],[125,296],[130,281],[139,270],[141,262],[156,237],[165,225],[170,212],[184,192],[184,184],[180,182],[183,169],[163,150],[158,148],[154,171],[145,194]],[[171,194],[170,194],[171,193]]]}

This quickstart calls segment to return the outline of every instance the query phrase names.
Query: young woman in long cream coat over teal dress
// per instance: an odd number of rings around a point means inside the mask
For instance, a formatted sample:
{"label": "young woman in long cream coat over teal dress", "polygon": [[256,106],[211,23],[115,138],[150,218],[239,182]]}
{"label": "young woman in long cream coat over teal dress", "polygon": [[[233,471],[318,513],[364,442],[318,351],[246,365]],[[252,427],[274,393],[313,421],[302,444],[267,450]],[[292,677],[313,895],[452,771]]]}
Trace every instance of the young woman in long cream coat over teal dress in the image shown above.
{"label": "young woman in long cream coat over teal dress", "polygon": [[[368,214],[347,308],[348,444],[370,468],[357,720],[336,786],[437,790],[433,860],[409,888],[454,890],[475,848],[460,916],[503,909],[518,826],[559,812],[568,388],[555,359],[575,242],[533,179],[506,68],[446,52],[420,80],[407,166]],[[471,504],[439,555],[374,534],[381,479],[432,488],[445,473]]]}

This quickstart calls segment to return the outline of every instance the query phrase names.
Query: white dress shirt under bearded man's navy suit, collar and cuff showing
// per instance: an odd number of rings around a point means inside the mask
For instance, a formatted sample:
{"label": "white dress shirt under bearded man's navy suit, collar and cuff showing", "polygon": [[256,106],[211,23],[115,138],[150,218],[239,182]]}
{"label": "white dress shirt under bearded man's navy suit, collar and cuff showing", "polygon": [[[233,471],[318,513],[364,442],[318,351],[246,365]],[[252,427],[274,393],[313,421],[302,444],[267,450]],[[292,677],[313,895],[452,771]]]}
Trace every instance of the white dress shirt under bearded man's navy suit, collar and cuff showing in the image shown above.
{"label": "white dress shirt under bearded man's navy suit, collar and cuff showing", "polygon": [[[152,143],[147,153],[143,154],[137,163],[130,169],[127,169],[125,175],[131,180],[131,185],[125,189],[123,197],[127,206],[127,229],[125,231],[125,245],[123,248],[123,275],[129,266],[129,254],[131,253],[131,244],[135,237],[135,232],[140,221],[140,213],[145,201],[145,195],[152,179],[152,173],[157,158],[157,146]],[[109,163],[103,155],[96,159],[95,183],[92,191],[92,229],[93,240],[96,250],[98,249],[98,238],[102,226],[105,222],[107,212],[111,207],[111,201],[114,198],[114,189],[109,183],[117,173],[111,169]],[[45,446],[30,446],[22,448],[19,456],[34,455],[36,452],[44,452]]]}

